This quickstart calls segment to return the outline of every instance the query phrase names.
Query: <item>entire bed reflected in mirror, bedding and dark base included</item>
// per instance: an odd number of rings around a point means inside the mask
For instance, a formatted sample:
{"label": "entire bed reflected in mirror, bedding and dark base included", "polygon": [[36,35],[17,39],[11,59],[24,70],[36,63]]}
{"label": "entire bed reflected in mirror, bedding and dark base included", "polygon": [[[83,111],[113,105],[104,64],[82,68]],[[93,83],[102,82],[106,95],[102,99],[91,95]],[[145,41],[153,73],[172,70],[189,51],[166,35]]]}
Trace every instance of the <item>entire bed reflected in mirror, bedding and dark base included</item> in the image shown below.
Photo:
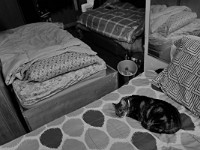
{"label": "entire bed reflected in mirror, bedding and dark base included", "polygon": [[168,63],[175,40],[200,35],[200,19],[185,5],[151,5],[149,34],[149,54]]}

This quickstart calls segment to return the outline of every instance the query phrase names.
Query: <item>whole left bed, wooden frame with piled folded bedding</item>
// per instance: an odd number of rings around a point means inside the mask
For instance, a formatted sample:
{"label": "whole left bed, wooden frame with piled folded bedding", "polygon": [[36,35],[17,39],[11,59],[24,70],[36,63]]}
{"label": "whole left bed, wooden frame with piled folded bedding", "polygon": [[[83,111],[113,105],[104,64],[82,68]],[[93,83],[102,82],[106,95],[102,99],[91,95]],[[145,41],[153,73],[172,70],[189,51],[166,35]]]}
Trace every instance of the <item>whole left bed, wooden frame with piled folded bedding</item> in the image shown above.
{"label": "whole left bed, wooden frame with piled folded bedding", "polygon": [[38,22],[0,33],[3,88],[10,88],[30,130],[117,88],[116,71],[63,28]]}

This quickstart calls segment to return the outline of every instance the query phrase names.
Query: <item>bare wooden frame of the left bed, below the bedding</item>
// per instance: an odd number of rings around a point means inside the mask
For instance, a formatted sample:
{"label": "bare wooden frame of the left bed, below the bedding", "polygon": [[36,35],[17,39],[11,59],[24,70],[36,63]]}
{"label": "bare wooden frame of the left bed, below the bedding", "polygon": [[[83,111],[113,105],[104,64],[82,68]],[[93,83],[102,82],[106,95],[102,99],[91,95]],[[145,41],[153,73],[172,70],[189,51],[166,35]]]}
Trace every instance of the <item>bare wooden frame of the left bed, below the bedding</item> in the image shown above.
{"label": "bare wooden frame of the left bed, below the bedding", "polygon": [[[8,90],[4,79],[1,80],[1,90]],[[19,102],[12,88],[9,94],[4,94],[1,101],[9,101],[19,112],[22,122],[28,131],[37,129],[38,127],[72,112],[80,107],[91,103],[102,96],[112,92],[118,88],[118,73],[113,68],[107,66],[106,70],[102,70],[87,79],[57,93],[56,95],[39,102],[30,109],[24,109]],[[10,97],[12,95],[12,98]],[[13,112],[10,112],[13,113]],[[6,118],[7,122],[12,122]]]}

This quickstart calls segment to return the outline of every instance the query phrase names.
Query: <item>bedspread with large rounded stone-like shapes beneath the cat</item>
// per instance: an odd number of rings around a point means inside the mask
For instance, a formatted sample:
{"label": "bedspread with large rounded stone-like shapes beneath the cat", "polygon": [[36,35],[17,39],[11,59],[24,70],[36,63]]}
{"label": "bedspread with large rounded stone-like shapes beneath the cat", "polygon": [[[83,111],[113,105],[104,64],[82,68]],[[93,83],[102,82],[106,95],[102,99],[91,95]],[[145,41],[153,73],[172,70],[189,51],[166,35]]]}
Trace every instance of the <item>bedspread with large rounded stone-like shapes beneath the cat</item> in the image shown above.
{"label": "bedspread with large rounded stone-like shapes beneath the cat", "polygon": [[[147,71],[128,85],[17,138],[1,150],[197,150],[200,147],[200,119],[151,86],[157,74]],[[115,116],[111,103],[126,95],[146,95],[166,100],[181,113],[182,129],[176,134],[156,134],[139,122]]]}

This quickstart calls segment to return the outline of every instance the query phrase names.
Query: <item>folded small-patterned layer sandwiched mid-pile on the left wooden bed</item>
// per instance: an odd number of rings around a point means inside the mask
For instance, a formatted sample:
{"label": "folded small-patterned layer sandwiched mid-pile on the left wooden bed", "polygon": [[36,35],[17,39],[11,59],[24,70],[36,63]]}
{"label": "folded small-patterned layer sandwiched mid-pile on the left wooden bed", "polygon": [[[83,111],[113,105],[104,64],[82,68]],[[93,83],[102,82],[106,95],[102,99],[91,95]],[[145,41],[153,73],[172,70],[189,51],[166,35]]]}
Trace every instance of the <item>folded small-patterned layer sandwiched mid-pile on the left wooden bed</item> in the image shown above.
{"label": "folded small-patterned layer sandwiched mid-pile on the left wooden bed", "polygon": [[58,75],[98,63],[96,55],[66,52],[50,58],[37,60],[33,64],[19,67],[16,76],[21,80],[43,82]]}

